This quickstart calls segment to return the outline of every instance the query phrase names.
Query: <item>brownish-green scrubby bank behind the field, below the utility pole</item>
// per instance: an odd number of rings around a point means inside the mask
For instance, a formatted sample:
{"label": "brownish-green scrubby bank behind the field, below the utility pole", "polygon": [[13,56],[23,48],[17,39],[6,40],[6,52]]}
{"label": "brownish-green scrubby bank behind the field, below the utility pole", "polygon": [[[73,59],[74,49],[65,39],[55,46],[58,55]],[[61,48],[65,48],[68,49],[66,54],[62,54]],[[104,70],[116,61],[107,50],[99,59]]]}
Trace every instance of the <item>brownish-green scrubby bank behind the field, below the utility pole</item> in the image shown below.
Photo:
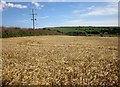
{"label": "brownish-green scrubby bank behind the field, below the utility pole", "polygon": [[49,29],[30,29],[17,27],[2,27],[2,37],[22,37],[22,36],[39,36],[39,35],[61,35],[57,31],[50,31]]}

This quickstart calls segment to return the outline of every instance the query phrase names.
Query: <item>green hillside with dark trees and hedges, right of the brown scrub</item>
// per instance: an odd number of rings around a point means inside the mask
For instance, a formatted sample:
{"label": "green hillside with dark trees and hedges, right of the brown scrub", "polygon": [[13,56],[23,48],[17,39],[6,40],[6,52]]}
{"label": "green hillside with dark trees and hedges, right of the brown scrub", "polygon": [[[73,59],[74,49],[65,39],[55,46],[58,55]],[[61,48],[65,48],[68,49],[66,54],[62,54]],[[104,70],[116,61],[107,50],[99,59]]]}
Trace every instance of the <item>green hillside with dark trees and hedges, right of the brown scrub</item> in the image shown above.
{"label": "green hillside with dark trees and hedges, right of the brown scrub", "polygon": [[59,31],[72,36],[114,35],[118,34],[118,27],[55,27],[50,30]]}

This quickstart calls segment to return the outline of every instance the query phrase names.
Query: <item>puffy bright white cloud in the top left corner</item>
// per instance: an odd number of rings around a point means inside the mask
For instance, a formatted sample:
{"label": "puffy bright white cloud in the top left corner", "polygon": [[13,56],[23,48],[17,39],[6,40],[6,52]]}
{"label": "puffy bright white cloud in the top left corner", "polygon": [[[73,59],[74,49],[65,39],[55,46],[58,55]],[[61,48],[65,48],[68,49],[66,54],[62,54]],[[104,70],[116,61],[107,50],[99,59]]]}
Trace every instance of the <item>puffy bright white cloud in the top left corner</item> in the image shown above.
{"label": "puffy bright white cloud in the top left corner", "polygon": [[1,1],[0,2],[0,11],[3,11],[5,8],[27,8],[27,6],[25,5],[21,5],[21,4],[13,4],[13,3],[6,3],[5,1]]}

